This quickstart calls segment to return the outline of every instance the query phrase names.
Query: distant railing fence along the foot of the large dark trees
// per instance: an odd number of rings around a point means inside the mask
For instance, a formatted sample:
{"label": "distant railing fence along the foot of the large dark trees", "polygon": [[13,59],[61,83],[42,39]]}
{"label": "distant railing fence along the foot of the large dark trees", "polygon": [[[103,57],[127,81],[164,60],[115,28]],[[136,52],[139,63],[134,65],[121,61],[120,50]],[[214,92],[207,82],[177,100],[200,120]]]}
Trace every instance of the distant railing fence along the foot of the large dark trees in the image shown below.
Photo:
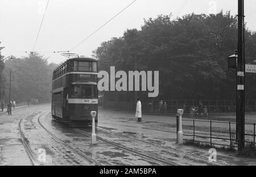
{"label": "distant railing fence along the foot of the large dark trees", "polygon": [[[199,106],[200,101],[203,106],[207,106],[208,112],[236,112],[236,100],[163,100],[167,103],[167,113],[176,113],[177,109],[184,109],[184,112],[188,113],[190,107]],[[134,102],[106,101],[105,106],[117,109],[135,109]],[[159,111],[158,100],[142,101],[142,109],[144,112],[164,112],[163,108]],[[246,100],[245,109],[247,112],[256,111],[256,100]]]}

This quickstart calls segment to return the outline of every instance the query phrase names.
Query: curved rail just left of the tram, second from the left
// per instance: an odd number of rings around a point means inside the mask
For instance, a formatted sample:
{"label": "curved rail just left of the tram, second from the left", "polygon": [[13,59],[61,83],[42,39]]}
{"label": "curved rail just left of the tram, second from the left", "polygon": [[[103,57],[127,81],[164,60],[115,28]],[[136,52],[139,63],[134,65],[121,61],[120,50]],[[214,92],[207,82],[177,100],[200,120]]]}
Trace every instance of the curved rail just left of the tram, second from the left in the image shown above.
{"label": "curved rail just left of the tram, second from the left", "polygon": [[63,140],[61,140],[60,138],[56,137],[52,132],[50,132],[46,127],[44,127],[44,125],[42,124],[42,122],[40,121],[40,117],[42,117],[44,114],[49,113],[49,112],[44,112],[42,115],[40,115],[38,117],[38,123],[39,125],[53,138],[53,140],[55,140],[56,142],[58,142],[61,145],[64,145],[65,147],[67,147],[69,150],[73,151],[73,153],[79,155],[81,158],[85,159],[86,161],[88,161],[89,163],[91,163],[92,165],[97,165],[97,162],[94,161],[93,159],[90,159],[87,157],[86,154],[84,154],[80,149],[75,149],[73,148],[71,145],[65,143]]}

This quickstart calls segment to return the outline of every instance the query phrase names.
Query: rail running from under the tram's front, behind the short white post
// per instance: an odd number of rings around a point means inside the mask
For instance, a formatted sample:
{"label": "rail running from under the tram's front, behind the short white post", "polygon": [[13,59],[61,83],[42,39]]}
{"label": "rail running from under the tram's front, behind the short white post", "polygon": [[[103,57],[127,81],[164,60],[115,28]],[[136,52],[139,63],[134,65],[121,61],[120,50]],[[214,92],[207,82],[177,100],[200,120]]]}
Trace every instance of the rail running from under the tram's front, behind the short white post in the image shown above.
{"label": "rail running from under the tram's front, behind the short white post", "polygon": [[[77,132],[80,132],[80,133],[84,134],[85,136],[89,136],[89,137],[91,136],[90,134],[88,134],[87,132],[84,132],[84,131],[81,130],[81,129],[76,128],[75,130],[76,130]],[[112,145],[112,146],[118,147],[119,149],[123,149],[123,150],[129,151],[129,152],[131,152],[131,153],[137,154],[137,155],[139,155],[139,156],[141,156],[141,157],[146,157],[146,158],[148,158],[148,159],[153,159],[154,161],[162,162],[162,163],[164,163],[164,164],[166,164],[166,165],[172,165],[172,166],[177,166],[177,165],[179,165],[179,164],[174,163],[174,162],[167,162],[167,161],[164,161],[164,160],[162,160],[162,159],[159,159],[159,158],[156,158],[156,157],[152,157],[152,156],[150,156],[150,155],[147,155],[147,154],[145,154],[145,153],[141,153],[141,152],[139,152],[139,151],[136,151],[136,150],[133,150],[133,149],[129,149],[128,147],[124,147],[124,146],[118,145],[118,144],[116,144],[116,143],[114,143],[114,142],[112,142],[112,141],[105,140],[104,138],[99,137],[99,136],[97,136],[96,138],[97,138],[98,140],[100,140],[100,141],[103,141],[103,142],[107,143],[107,144],[110,144],[110,145]]]}

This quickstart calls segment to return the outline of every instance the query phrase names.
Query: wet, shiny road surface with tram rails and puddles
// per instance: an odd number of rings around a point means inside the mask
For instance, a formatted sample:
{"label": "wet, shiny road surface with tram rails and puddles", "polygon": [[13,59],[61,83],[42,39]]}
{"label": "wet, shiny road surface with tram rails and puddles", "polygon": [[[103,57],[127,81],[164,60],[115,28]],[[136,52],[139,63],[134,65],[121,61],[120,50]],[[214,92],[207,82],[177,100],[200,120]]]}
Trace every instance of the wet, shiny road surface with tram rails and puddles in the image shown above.
{"label": "wet, shiny road surface with tram rails and puddles", "polygon": [[0,165],[255,165],[255,159],[176,145],[175,117],[99,110],[97,144],[91,128],[69,128],[51,119],[50,104],[0,113]]}

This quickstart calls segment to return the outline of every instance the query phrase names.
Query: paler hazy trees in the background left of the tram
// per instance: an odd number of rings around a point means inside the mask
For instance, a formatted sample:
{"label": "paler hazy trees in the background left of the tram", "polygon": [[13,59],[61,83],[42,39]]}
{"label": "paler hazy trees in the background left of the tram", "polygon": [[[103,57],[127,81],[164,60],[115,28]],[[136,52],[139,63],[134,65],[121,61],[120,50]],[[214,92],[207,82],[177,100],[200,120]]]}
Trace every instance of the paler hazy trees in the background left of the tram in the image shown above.
{"label": "paler hazy trees in the background left of the tram", "polygon": [[5,79],[1,82],[5,88],[4,99],[9,100],[11,70],[11,100],[27,102],[33,98],[48,102],[51,100],[52,71],[56,66],[48,64],[47,59],[37,53],[6,60],[3,71]]}

